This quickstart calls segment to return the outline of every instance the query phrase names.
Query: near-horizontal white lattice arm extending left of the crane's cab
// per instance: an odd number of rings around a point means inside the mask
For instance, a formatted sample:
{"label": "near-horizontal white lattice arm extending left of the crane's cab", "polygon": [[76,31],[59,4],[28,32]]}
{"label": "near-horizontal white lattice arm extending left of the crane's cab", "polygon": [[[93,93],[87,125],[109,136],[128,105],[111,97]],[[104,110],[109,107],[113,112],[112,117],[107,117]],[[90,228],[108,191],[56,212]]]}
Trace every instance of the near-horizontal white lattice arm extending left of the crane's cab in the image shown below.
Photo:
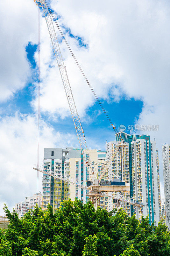
{"label": "near-horizontal white lattice arm extending left of the crane's cab", "polygon": [[71,183],[71,184],[73,184],[75,186],[78,186],[80,188],[83,188],[83,189],[88,189],[88,187],[87,187],[85,182],[80,181],[80,180],[76,180],[76,179],[74,179],[74,178],[72,178],[70,176],[64,176],[64,175],[55,173],[55,172],[53,172],[51,170],[44,170],[43,167],[40,167],[37,164],[34,165],[33,169],[36,170],[36,171],[42,172],[43,174],[47,174],[49,176],[52,176],[55,179],[66,181],[68,183]]}

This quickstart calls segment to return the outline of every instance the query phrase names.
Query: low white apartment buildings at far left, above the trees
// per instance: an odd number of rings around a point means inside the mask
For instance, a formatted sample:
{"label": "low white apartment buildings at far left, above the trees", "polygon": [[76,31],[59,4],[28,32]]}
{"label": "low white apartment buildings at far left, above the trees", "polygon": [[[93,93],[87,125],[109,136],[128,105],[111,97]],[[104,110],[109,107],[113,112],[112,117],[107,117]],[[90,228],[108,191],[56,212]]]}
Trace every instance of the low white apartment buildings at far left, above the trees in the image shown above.
{"label": "low white apartment buildings at far left, above the trees", "polygon": [[33,196],[27,196],[25,197],[25,201],[15,204],[15,211],[20,218],[21,216],[24,216],[24,214],[29,210],[33,210],[36,204],[38,207],[42,206],[41,192],[33,194]]}

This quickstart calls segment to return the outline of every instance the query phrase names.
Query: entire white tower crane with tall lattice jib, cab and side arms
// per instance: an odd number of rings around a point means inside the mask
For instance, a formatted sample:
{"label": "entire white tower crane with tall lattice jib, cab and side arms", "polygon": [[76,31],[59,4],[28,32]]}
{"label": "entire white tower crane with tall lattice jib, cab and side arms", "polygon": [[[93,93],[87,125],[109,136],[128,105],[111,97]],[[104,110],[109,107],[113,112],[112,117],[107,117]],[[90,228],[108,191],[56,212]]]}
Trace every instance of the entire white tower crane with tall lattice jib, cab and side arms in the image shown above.
{"label": "entire white tower crane with tall lattice jib, cab and side arms", "polygon": [[[122,138],[120,136],[119,137],[121,138],[121,141],[117,142],[116,149],[115,149],[114,153],[111,155],[109,161],[107,163],[104,163],[104,169],[103,169],[103,172],[100,174],[99,178],[98,178],[97,172],[94,171],[94,169],[92,169],[92,162],[91,162],[90,155],[89,155],[89,150],[88,150],[88,147],[87,147],[87,144],[86,144],[86,140],[85,140],[85,136],[84,136],[84,130],[82,128],[80,118],[79,118],[79,115],[78,115],[78,112],[77,112],[77,109],[76,109],[76,105],[75,105],[75,102],[74,102],[71,86],[70,86],[68,76],[67,76],[66,66],[64,65],[64,61],[63,61],[63,58],[62,58],[62,55],[61,55],[61,52],[60,52],[60,46],[59,46],[57,36],[56,36],[56,33],[55,33],[53,20],[52,20],[52,17],[51,17],[52,12],[48,8],[48,5],[47,5],[45,0],[34,0],[34,2],[36,3],[37,6],[42,8],[43,13],[44,13],[44,17],[46,19],[46,24],[47,24],[48,32],[49,32],[51,42],[52,42],[52,45],[53,45],[55,58],[57,60],[57,64],[58,64],[58,67],[59,67],[62,83],[63,83],[63,86],[64,86],[64,90],[66,92],[68,105],[69,105],[70,112],[71,112],[71,115],[72,115],[72,118],[73,118],[75,130],[76,130],[76,133],[77,133],[77,137],[78,137],[78,140],[79,140],[79,143],[80,143],[81,152],[82,152],[82,155],[83,155],[83,159],[84,159],[86,168],[89,172],[90,179],[89,179],[89,181],[87,181],[86,184],[84,184],[84,182],[82,182],[82,181],[80,182],[79,180],[76,180],[72,177],[66,177],[66,176],[57,174],[53,171],[50,171],[50,170],[44,170],[43,168],[39,168],[39,166],[36,166],[36,165],[34,166],[33,169],[35,169],[39,172],[45,173],[45,174],[47,174],[49,176],[52,176],[54,178],[57,178],[59,180],[64,180],[68,183],[74,184],[75,186],[81,187],[82,189],[88,189],[89,194],[87,194],[87,196],[89,196],[89,200],[91,200],[92,203],[94,204],[95,209],[97,209],[97,206],[100,206],[100,198],[103,197],[103,195],[105,193],[107,193],[106,194],[107,196],[110,196],[111,198],[116,199],[117,204],[119,204],[120,202],[127,202],[129,204],[133,204],[133,205],[136,205],[138,207],[143,207],[144,205],[142,203],[139,203],[139,202],[136,202],[136,201],[134,202],[134,200],[129,198],[129,197],[122,196],[121,194],[117,194],[117,193],[120,193],[120,192],[121,193],[122,192],[130,192],[130,184],[129,183],[125,183],[125,181],[114,180],[114,179],[113,179],[113,181],[108,181],[107,183],[102,182],[103,175],[107,171],[110,164],[112,163],[112,160],[114,159],[114,157],[117,155],[117,152],[120,149],[123,152],[124,147],[126,146],[124,141],[122,140]],[[88,82],[88,80],[87,80],[87,82]],[[89,82],[88,82],[88,84],[89,84]],[[100,102],[99,102],[99,104],[101,105]],[[112,125],[112,128],[117,131],[116,127],[112,123],[111,123],[111,125]]]}

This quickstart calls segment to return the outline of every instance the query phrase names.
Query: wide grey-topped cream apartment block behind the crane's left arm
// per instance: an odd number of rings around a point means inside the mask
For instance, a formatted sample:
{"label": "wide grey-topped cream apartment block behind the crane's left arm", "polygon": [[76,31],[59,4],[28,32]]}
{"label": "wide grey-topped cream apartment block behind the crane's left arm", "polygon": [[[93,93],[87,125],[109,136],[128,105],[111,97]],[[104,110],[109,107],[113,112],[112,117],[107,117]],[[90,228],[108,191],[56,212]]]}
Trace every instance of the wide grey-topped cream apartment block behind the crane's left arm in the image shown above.
{"label": "wide grey-topped cream apartment block behind the crane's left arm", "polygon": [[[86,150],[84,151],[86,153]],[[106,152],[89,149],[89,156],[93,163],[92,168],[94,172],[100,173],[102,167],[98,168],[97,163],[104,163]],[[77,148],[45,148],[44,170],[52,170],[55,173],[70,176],[84,182],[89,180],[89,172],[83,161],[83,155],[81,150]],[[43,174],[43,210],[46,210],[47,205],[50,204],[53,207],[53,211],[56,212],[61,203],[64,200],[68,200],[68,198],[71,198],[73,201],[75,198],[78,198],[85,204],[89,200],[88,193],[88,190]],[[101,207],[108,208],[108,205],[102,203]]]}

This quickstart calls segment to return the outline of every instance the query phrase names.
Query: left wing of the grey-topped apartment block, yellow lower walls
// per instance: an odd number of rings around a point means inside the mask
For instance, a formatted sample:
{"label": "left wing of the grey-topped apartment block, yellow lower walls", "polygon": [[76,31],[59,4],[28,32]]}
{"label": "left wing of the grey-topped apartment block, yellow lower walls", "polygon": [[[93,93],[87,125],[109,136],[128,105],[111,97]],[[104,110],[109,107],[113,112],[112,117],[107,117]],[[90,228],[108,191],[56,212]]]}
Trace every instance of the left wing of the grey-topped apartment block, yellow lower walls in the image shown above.
{"label": "left wing of the grey-topped apartment block, yellow lower walls", "polygon": [[[73,148],[44,148],[44,170],[69,175],[69,150]],[[50,204],[55,211],[63,200],[68,199],[69,184],[62,180],[43,174],[42,209],[46,210]]]}

